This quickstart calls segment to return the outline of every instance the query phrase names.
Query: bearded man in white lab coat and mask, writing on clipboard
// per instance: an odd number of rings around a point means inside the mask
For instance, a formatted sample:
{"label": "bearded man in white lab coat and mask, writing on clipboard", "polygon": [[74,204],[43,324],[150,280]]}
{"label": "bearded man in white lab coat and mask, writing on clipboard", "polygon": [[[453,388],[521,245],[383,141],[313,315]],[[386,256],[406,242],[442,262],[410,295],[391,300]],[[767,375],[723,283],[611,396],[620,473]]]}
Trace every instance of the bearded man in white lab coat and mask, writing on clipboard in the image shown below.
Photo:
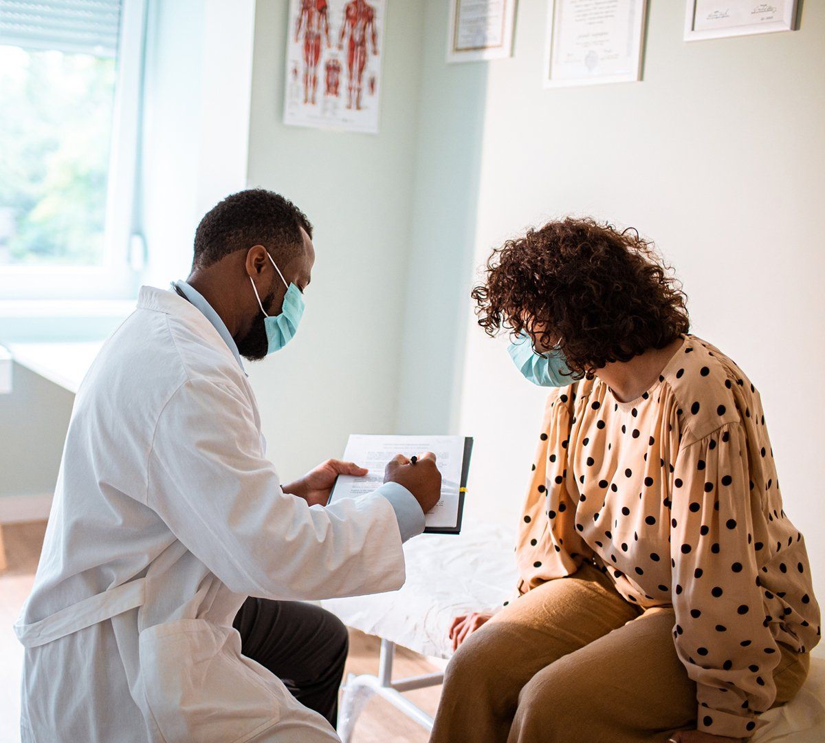
{"label": "bearded man in white lab coat and mask, writing on clipboard", "polygon": [[144,286],[89,370],[15,626],[24,743],[338,740],[272,672],[297,696],[320,689],[334,718],[340,628],[292,602],[398,589],[441,476],[432,455],[399,456],[374,493],[325,508],[361,468],[328,461],[284,485],[266,459],[241,357],[298,329],[311,236],[274,193],[224,199],[188,282]]}

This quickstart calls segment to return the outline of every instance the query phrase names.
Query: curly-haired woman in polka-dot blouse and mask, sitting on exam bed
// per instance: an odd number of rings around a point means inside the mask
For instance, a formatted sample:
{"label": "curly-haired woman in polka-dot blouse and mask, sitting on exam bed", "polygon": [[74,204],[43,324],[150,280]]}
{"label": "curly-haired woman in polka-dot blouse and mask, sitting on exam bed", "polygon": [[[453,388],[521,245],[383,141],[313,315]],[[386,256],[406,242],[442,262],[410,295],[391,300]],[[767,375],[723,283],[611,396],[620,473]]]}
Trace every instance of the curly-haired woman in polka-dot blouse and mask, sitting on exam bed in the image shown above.
{"label": "curly-haired woman in polka-dot blouse and mask, sitting on exam bed", "polygon": [[431,741],[749,738],[820,637],[759,393],[688,334],[685,296],[632,231],[530,230],[473,297],[488,334],[535,348],[514,353],[531,381],[564,386],[544,410],[516,598],[455,619]]}

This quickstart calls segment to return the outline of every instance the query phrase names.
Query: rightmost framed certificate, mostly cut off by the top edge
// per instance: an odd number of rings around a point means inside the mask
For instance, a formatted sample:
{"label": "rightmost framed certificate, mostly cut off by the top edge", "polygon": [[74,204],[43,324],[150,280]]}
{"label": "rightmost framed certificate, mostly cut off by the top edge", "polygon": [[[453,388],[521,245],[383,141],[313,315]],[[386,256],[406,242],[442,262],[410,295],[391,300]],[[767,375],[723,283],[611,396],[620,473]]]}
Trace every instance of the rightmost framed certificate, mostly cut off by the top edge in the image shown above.
{"label": "rightmost framed certificate, mostly cut off by the top edge", "polygon": [[687,0],[685,40],[796,29],[798,0]]}

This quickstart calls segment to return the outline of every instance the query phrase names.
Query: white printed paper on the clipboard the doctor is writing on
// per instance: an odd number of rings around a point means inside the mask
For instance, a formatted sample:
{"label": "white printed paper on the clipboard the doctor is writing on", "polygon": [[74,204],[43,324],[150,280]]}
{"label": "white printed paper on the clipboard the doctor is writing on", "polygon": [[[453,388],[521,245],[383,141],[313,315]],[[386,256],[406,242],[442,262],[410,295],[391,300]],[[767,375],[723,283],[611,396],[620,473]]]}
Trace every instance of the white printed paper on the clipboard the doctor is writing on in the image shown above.
{"label": "white printed paper on the clipboard the doctor is writing on", "polygon": [[371,493],[384,483],[384,467],[396,454],[418,457],[424,452],[436,455],[436,466],[441,472],[441,499],[427,513],[426,525],[431,528],[455,528],[459,517],[459,485],[464,462],[463,436],[372,436],[353,433],[343,458],[366,467],[370,472],[364,477],[338,476],[330,501]]}

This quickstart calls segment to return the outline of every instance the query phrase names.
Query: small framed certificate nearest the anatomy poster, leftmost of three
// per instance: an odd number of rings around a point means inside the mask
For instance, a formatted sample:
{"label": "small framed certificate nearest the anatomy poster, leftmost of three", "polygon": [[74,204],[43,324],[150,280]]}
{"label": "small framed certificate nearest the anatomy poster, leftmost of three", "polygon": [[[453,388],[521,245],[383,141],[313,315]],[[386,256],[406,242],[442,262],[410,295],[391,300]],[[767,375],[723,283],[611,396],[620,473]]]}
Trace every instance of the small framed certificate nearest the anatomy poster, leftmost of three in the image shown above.
{"label": "small framed certificate nearest the anatomy poster, leftmost of three", "polygon": [[516,0],[452,0],[447,61],[509,57],[515,17]]}

